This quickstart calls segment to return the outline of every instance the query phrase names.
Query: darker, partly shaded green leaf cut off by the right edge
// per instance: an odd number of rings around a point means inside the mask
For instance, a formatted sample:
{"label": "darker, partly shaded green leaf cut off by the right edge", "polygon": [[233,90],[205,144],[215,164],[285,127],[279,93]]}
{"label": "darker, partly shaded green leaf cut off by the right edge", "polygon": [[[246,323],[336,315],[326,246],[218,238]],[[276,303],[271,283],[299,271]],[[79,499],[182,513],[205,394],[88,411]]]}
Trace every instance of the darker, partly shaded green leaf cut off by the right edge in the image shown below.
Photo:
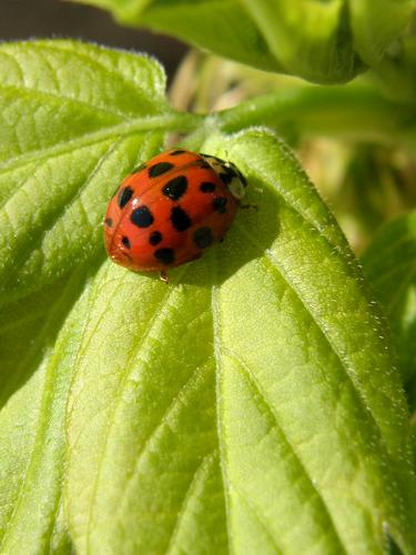
{"label": "darker, partly shaded green leaf cut off by the right edge", "polygon": [[[413,410],[416,408],[416,212],[384,225],[363,255],[365,273],[392,326]],[[415,384],[414,384],[415,382]]]}

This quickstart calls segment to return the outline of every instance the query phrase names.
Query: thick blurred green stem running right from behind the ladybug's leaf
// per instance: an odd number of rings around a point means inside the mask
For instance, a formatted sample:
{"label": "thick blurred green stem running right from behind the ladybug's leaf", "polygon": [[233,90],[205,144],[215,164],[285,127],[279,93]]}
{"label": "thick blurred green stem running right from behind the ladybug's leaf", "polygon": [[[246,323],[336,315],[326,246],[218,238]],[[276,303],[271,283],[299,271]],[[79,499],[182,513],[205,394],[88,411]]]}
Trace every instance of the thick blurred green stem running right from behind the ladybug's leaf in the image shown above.
{"label": "thick blurred green stem running right from behind the ladybug's leaf", "polygon": [[416,139],[416,111],[363,85],[285,89],[248,100],[217,118],[225,132],[267,125],[284,137],[329,135],[412,145]]}

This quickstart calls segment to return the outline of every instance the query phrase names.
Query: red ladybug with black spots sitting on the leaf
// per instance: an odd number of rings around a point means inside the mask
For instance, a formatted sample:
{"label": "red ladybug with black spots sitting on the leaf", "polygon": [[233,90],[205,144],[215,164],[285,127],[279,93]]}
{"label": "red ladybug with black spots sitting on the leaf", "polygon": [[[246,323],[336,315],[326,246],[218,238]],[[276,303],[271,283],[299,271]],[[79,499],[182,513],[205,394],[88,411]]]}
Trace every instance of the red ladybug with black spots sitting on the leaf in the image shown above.
{"label": "red ladybug with black spots sitting on the leaf", "polygon": [[166,270],[199,259],[222,241],[247,182],[231,162],[170,150],[128,175],[104,219],[109,256],[130,270]]}

